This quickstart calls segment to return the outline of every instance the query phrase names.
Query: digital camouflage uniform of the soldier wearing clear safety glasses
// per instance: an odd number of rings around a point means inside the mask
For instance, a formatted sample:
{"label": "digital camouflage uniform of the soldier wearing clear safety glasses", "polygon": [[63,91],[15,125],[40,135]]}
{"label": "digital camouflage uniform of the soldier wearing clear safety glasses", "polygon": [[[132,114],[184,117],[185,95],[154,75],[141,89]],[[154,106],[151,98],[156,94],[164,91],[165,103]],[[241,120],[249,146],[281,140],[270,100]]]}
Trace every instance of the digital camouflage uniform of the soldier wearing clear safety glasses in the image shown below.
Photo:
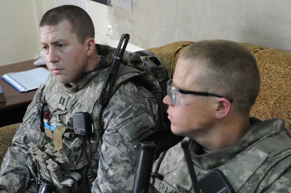
{"label": "digital camouflage uniform of the soldier wearing clear safety glasses", "polygon": [[[284,119],[251,118],[250,123],[239,143],[210,153],[194,140],[184,139],[198,181],[212,169],[219,169],[235,192],[291,192],[291,138],[285,134]],[[163,181],[155,181],[159,192],[194,192],[180,143],[167,151],[158,173],[163,176]]]}

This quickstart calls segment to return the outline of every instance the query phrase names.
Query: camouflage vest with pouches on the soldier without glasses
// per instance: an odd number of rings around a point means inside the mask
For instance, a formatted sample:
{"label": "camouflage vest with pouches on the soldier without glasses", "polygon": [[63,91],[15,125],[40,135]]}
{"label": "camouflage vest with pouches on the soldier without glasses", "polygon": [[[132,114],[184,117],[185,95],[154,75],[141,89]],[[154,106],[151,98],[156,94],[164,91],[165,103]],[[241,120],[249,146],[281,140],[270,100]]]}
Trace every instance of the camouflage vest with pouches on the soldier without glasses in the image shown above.
{"label": "camouflage vest with pouches on the soldier without glasses", "polygon": [[[100,73],[94,74],[92,80],[78,92],[65,91],[60,83],[53,80],[52,75],[47,80],[47,86],[38,90],[40,93],[37,94],[42,95],[41,103],[47,103],[44,111],[48,110],[50,114],[49,121],[44,124],[46,126],[47,142],[43,142],[39,149],[37,144],[29,144],[31,157],[28,162],[30,166],[39,165],[38,169],[31,167],[31,173],[54,184],[58,192],[74,191],[73,189],[76,189],[77,192],[91,192],[90,185],[92,184],[87,185],[86,181],[88,180],[82,178],[88,176],[87,169],[92,174],[88,162],[93,166],[97,165],[100,154],[101,143],[96,125],[100,109],[98,97],[107,72],[108,68],[105,68]],[[118,73],[111,95],[116,91],[118,85],[129,78],[139,76],[139,72],[134,69],[130,72],[121,71]],[[85,141],[85,145],[82,144],[81,137],[68,132],[67,126],[75,112],[88,112],[91,115],[94,132]],[[56,127],[52,127],[52,125],[56,125]],[[40,140],[45,141],[45,139]],[[84,146],[86,151],[84,151]],[[37,171],[38,174],[36,174]],[[94,177],[94,175],[91,177]]]}

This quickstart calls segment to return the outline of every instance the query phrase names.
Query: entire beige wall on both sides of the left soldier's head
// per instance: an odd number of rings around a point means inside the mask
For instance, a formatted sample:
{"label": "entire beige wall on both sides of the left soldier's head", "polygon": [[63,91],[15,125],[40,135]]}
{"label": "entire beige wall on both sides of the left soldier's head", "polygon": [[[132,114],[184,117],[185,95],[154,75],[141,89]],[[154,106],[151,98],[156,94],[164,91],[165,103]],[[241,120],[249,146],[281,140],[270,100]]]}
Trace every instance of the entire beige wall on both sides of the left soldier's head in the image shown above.
{"label": "entire beige wall on both sides of the left soldier's head", "polygon": [[[0,0],[0,66],[31,60],[41,51],[38,23],[53,7],[54,0]],[[129,33],[129,43],[145,49],[228,39],[291,51],[290,0],[132,0],[132,8],[89,0],[96,42],[116,46]]]}

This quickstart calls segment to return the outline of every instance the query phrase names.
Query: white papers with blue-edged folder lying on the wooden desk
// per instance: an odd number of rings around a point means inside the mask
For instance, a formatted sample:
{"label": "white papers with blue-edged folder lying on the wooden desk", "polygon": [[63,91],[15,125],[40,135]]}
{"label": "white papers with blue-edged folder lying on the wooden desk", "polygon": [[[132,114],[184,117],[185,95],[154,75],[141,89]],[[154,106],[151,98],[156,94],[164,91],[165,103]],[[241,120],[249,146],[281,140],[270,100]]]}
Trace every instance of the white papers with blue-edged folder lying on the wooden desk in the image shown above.
{"label": "white papers with blue-edged folder lying on the wooden desk", "polygon": [[51,72],[48,69],[38,67],[23,72],[9,72],[1,76],[1,78],[19,92],[25,92],[44,84],[49,74]]}

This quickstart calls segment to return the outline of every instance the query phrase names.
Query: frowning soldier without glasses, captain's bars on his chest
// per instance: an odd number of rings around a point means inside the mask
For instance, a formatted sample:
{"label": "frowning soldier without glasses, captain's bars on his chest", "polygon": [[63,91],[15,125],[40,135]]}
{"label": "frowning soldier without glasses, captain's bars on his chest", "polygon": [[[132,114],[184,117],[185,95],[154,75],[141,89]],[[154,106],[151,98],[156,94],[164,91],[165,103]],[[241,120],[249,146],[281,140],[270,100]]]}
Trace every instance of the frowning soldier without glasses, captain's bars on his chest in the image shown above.
{"label": "frowning soldier without glasses, captain's bars on his chest", "polygon": [[[43,15],[40,45],[52,74],[37,90],[3,159],[0,192],[32,193],[40,185],[50,192],[125,192],[136,168],[134,146],[159,128],[158,104],[138,81],[116,76],[122,84],[98,115],[116,49],[95,44],[94,35],[90,16],[77,6]],[[120,61],[129,64],[129,52]],[[83,122],[86,129],[78,130]]]}

